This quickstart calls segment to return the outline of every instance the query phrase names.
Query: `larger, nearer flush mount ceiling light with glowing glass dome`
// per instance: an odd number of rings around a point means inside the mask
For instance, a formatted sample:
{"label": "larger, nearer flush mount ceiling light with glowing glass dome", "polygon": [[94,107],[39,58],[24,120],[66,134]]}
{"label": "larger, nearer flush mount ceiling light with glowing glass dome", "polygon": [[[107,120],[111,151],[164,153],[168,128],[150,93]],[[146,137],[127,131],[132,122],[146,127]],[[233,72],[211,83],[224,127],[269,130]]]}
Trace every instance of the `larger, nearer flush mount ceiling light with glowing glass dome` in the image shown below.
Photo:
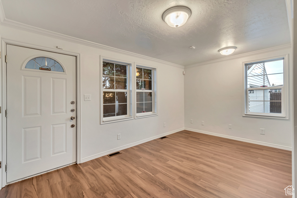
{"label": "larger, nearer flush mount ceiling light with glowing glass dome", "polygon": [[184,25],[191,16],[191,10],[185,6],[171,7],[162,14],[162,19],[170,27],[179,27]]}

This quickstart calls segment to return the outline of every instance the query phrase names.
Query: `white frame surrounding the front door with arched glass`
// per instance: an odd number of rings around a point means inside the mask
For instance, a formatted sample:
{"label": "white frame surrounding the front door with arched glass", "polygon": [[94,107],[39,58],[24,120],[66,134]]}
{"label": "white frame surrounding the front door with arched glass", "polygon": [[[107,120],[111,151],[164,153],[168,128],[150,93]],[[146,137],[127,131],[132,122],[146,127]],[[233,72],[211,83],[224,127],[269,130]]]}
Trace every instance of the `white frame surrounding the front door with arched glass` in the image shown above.
{"label": "white frame surrounding the front door with arched glass", "polygon": [[[0,75],[0,106],[1,106],[1,122],[0,122],[0,161],[1,162],[1,169],[0,169],[0,189],[6,186],[8,183],[6,182],[6,171],[5,171],[5,164],[7,162],[7,119],[5,117],[5,109],[7,108],[7,73],[6,73],[6,62],[5,62],[5,55],[6,55],[6,45],[17,45],[20,47],[32,48],[37,50],[49,51],[53,53],[65,54],[70,56],[76,57],[76,163],[81,163],[81,99],[80,99],[80,54],[64,51],[57,48],[48,48],[42,47],[38,45],[32,45],[29,43],[22,43],[14,40],[8,40],[1,38],[1,75]],[[9,59],[9,58],[8,58]],[[9,114],[9,112],[8,112]],[[30,176],[32,177],[32,176]],[[27,177],[29,178],[29,177]],[[17,180],[19,181],[19,180]],[[16,181],[15,181],[16,182]],[[13,182],[10,182],[13,183]]]}

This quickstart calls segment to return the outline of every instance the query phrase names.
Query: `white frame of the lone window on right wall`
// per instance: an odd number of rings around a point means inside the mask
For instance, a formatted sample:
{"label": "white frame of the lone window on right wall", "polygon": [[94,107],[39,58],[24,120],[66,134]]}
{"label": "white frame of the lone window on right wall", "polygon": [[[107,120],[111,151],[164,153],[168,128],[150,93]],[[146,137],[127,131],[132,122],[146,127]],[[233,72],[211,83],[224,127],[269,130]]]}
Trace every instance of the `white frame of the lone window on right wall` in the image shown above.
{"label": "white frame of the lone window on right wall", "polygon": [[[284,85],[282,87],[253,87],[253,88],[247,88],[247,78],[246,78],[246,67],[249,64],[252,63],[260,63],[260,62],[270,62],[270,61],[276,61],[284,59]],[[243,117],[261,117],[261,118],[274,118],[274,119],[284,119],[288,120],[288,115],[289,115],[289,75],[288,75],[288,54],[283,55],[283,56],[275,56],[271,58],[266,58],[266,59],[260,59],[260,60],[253,60],[253,61],[248,61],[248,62],[243,62]],[[249,90],[257,90],[257,89],[281,89],[282,92],[282,113],[281,114],[276,114],[276,113],[255,113],[255,112],[249,112]]]}

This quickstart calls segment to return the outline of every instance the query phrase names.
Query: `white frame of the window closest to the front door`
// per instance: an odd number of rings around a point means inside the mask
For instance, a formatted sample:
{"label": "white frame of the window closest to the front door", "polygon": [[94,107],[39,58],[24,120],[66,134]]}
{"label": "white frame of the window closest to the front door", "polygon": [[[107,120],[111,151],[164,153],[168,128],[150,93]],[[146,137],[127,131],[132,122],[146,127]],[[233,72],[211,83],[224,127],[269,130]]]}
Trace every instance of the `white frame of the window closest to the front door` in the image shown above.
{"label": "white frame of the window closest to the front door", "polygon": [[[127,65],[127,89],[119,89],[119,91],[127,91],[127,115],[121,115],[121,116],[113,116],[113,117],[103,117],[103,90],[108,90],[108,89],[103,89],[103,62],[110,62],[110,63],[115,63],[115,64],[121,64],[121,65]],[[134,67],[133,62],[129,61],[124,61],[124,60],[119,60],[119,59],[113,59],[113,58],[108,58],[108,57],[103,57],[100,56],[100,124],[107,124],[107,123],[112,123],[112,122],[120,122],[124,120],[132,120],[134,119],[133,116],[133,92],[132,92],[132,68]]]}

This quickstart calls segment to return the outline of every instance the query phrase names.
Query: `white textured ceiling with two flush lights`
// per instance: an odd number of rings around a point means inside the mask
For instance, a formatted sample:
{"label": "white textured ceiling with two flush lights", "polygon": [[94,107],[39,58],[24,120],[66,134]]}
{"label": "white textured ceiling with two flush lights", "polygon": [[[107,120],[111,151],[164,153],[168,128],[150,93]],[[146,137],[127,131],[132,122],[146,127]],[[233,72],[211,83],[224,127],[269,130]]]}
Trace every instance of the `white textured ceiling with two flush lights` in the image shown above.
{"label": "white textured ceiling with two flush lights", "polygon": [[[285,0],[1,2],[6,19],[183,66],[223,58],[227,46],[237,55],[290,43]],[[192,15],[172,28],[162,13],[176,5]]]}

